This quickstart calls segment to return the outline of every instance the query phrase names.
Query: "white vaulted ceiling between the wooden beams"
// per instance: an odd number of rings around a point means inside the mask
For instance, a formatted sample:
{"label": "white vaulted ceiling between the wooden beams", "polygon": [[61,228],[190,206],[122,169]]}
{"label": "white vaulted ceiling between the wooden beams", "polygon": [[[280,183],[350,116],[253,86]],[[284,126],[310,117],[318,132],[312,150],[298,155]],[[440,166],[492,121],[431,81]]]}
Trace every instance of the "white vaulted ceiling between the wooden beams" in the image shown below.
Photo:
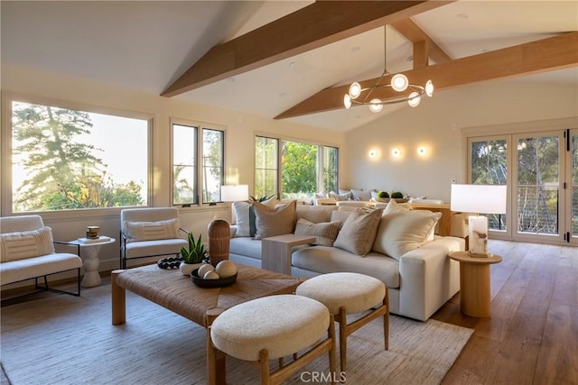
{"label": "white vaulted ceiling between the wooden beams", "polygon": [[[213,45],[311,3],[2,1],[1,58],[160,95]],[[412,20],[452,59],[460,59],[578,31],[578,0],[461,0]],[[411,55],[411,43],[388,27],[389,72],[411,69]],[[375,78],[383,69],[379,28],[174,97],[272,118],[323,88]],[[578,68],[524,80],[578,87]],[[398,108],[409,107],[387,106],[385,113]],[[357,107],[292,121],[345,132],[379,116]]]}

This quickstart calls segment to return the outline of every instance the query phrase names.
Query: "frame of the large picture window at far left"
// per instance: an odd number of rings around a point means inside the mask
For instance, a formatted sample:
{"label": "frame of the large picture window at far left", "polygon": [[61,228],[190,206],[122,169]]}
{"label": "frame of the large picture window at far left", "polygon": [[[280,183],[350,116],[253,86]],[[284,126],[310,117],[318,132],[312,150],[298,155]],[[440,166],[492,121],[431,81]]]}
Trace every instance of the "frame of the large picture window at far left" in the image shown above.
{"label": "frame of the large picture window at far left", "polygon": [[0,188],[0,205],[2,209],[3,216],[9,215],[42,215],[45,219],[51,219],[56,217],[61,217],[66,215],[68,217],[86,217],[89,213],[94,214],[98,212],[98,215],[112,215],[117,214],[120,210],[135,206],[122,206],[122,207],[93,207],[93,208],[77,208],[77,209],[63,209],[63,210],[47,210],[47,211],[27,211],[25,213],[14,213],[13,212],[13,186],[12,186],[12,160],[13,160],[13,127],[12,127],[12,105],[13,102],[21,102],[32,105],[50,105],[53,107],[77,110],[79,112],[100,114],[100,115],[113,115],[118,117],[125,117],[130,119],[144,120],[147,124],[146,134],[146,186],[145,186],[145,197],[146,206],[154,206],[154,194],[153,194],[153,127],[154,127],[154,115],[144,114],[135,111],[119,110],[115,108],[104,107],[100,105],[91,105],[89,103],[62,100],[57,98],[51,98],[47,96],[33,96],[24,93],[2,91],[2,127],[0,132],[0,137],[2,139],[0,151],[2,153],[2,167],[0,168],[0,179],[2,180],[2,188]]}

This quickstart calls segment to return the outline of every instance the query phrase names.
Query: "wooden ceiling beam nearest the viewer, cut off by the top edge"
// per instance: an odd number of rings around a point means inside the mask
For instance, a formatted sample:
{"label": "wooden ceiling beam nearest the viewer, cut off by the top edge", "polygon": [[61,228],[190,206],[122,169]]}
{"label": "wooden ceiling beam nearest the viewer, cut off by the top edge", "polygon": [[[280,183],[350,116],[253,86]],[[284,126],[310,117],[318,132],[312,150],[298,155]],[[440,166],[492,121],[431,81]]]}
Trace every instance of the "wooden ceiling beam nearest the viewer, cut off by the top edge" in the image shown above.
{"label": "wooden ceiling beam nearest the viewer, cut off by the top edge", "polygon": [[180,95],[454,1],[317,1],[211,48],[161,95]]}

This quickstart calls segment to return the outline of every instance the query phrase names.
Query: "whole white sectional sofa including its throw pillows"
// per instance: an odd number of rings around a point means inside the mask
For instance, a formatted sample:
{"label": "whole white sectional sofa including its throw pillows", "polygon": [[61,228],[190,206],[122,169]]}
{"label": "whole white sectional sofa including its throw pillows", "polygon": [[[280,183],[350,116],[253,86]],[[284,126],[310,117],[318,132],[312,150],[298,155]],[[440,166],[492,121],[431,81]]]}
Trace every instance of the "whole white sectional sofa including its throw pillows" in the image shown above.
{"label": "whole white sectional sofa including its throw pillows", "polygon": [[235,202],[232,211],[232,261],[260,268],[261,239],[314,236],[314,243],[293,248],[292,275],[367,274],[387,285],[392,313],[421,321],[460,289],[459,264],[447,254],[463,251],[465,242],[433,234],[441,213],[395,201],[385,208]]}

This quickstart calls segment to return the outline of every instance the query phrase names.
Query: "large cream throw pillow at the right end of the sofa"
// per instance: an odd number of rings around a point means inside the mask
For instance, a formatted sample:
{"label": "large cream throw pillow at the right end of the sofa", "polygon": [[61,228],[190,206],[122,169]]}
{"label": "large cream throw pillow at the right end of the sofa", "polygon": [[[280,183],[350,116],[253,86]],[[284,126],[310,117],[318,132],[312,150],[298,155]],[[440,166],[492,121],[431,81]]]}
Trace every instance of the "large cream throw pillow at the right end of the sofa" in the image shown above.
{"label": "large cream throw pillow at the right end of the sofa", "polygon": [[426,210],[397,210],[385,213],[378,227],[373,251],[389,255],[396,260],[427,242],[433,227],[442,213]]}

